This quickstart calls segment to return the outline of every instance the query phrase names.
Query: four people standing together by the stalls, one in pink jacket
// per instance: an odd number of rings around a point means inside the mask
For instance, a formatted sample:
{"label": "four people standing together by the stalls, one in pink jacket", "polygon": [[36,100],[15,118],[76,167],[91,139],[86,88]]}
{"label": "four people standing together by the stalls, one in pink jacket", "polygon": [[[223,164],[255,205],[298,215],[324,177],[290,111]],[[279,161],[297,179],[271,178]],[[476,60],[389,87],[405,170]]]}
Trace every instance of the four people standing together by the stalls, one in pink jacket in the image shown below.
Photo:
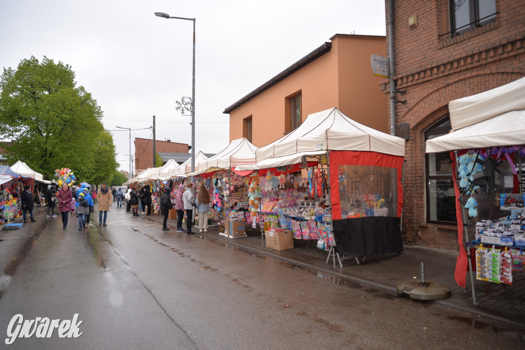
{"label": "four people standing together by the stalls, one in pink jacket", "polygon": [[[193,184],[188,183],[186,186],[183,184],[178,185],[178,189],[175,193],[175,210],[177,211],[177,232],[184,232],[182,228],[182,220],[184,213],[186,213],[186,234],[193,235],[193,210],[195,209],[198,215],[198,229],[199,232],[208,231],[208,216],[209,216],[209,203],[211,199],[209,197],[208,190],[204,185],[201,185],[198,190],[197,200],[193,195]],[[170,230],[167,226],[167,218],[170,213],[170,209],[173,208],[171,198],[171,188],[166,186],[163,188],[163,193],[160,198],[160,209],[164,215],[162,222],[162,230]]]}

